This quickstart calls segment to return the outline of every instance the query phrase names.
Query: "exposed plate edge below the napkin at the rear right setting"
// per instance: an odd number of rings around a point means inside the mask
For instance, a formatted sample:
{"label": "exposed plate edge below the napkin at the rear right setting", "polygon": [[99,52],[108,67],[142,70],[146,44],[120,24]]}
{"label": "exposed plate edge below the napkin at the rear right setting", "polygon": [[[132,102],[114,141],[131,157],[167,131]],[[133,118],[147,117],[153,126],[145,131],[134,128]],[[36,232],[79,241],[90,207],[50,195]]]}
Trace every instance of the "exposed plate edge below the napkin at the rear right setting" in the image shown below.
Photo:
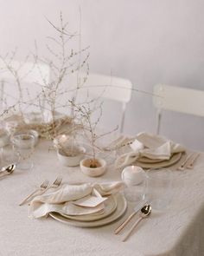
{"label": "exposed plate edge below the napkin at the rear right setting", "polygon": [[159,162],[142,162],[136,161],[138,167],[143,167],[145,169],[149,168],[160,168],[160,167],[169,167],[179,161],[182,157],[182,153],[173,154],[173,156],[167,161],[159,161]]}

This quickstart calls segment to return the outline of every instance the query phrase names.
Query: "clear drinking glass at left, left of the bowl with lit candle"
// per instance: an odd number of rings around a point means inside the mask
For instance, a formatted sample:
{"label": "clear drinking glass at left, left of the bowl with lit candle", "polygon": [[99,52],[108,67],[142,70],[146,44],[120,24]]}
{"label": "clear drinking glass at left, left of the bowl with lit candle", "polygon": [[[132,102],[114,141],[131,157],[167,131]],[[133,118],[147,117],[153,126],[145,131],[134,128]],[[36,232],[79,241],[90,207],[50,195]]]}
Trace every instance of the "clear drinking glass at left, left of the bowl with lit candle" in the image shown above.
{"label": "clear drinking glass at left, left of the bowl with lit candle", "polygon": [[14,135],[12,144],[15,154],[18,156],[17,167],[22,170],[29,170],[34,166],[31,161],[31,155],[34,153],[35,136],[34,135]]}

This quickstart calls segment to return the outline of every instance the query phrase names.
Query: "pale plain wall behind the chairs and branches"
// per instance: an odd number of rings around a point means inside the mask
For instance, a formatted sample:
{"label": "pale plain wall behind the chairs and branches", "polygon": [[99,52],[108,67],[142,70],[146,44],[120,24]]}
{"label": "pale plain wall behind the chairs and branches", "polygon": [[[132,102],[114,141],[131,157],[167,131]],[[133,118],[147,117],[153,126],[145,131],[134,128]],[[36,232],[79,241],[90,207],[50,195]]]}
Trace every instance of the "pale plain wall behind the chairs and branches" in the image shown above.
{"label": "pale plain wall behind the chairs and branches", "polygon": [[[92,72],[127,77],[135,89],[152,91],[157,82],[203,89],[204,2],[202,0],[0,0],[0,52],[19,48],[22,57],[52,35],[60,10],[91,46]],[[43,50],[41,50],[43,52]],[[195,102],[196,104],[196,102]],[[118,115],[118,105],[112,111]],[[114,120],[105,119],[114,124]],[[125,132],[154,132],[156,111],[150,95],[134,92]],[[162,133],[185,145],[204,149],[204,121],[168,113]]]}

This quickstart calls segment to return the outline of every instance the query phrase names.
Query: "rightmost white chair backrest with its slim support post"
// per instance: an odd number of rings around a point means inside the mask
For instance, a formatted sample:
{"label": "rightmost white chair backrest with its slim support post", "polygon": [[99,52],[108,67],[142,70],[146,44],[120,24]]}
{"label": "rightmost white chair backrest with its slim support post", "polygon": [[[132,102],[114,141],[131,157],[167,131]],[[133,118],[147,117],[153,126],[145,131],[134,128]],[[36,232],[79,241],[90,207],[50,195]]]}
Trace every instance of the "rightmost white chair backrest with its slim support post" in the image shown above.
{"label": "rightmost white chair backrest with its slim support post", "polygon": [[203,90],[156,84],[153,94],[153,103],[157,108],[157,134],[160,130],[162,109],[204,116]]}

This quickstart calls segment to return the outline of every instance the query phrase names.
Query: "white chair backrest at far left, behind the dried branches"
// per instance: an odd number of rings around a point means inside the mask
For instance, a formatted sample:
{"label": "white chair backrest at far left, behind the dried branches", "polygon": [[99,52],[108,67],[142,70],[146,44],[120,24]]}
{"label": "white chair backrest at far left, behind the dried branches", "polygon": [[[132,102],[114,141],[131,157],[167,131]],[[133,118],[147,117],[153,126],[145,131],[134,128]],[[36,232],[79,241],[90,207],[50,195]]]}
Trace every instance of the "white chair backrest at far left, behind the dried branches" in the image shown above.
{"label": "white chair backrest at far left, behind the dried branches", "polygon": [[40,93],[40,89],[43,85],[48,84],[50,78],[50,69],[45,63],[18,62],[16,60],[7,63],[0,62],[1,101],[6,97],[9,106],[16,104],[20,95],[15,73],[21,82],[25,102]]}

